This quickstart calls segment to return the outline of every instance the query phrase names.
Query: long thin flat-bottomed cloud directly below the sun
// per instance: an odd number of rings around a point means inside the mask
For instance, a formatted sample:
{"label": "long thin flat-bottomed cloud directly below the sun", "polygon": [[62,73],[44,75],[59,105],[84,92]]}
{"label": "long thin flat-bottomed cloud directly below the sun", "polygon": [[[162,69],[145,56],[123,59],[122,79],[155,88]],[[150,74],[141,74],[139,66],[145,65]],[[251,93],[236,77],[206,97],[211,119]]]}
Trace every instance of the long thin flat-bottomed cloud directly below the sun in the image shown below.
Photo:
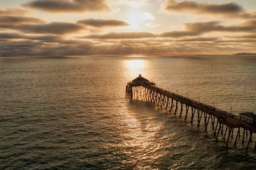
{"label": "long thin flat-bottomed cloud directly below the sun", "polygon": [[150,38],[156,37],[153,33],[150,32],[110,32],[104,35],[86,35],[79,38],[88,38],[88,39],[140,39],[140,38]]}

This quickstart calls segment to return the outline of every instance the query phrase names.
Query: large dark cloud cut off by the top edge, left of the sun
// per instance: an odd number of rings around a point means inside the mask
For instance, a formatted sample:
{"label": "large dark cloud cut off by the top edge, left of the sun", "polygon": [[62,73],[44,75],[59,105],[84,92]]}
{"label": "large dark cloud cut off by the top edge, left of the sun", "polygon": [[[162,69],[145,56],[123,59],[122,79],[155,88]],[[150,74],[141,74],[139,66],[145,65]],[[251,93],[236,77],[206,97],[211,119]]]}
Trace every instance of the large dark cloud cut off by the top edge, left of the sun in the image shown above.
{"label": "large dark cloud cut off by the top edge, left of the sun", "polygon": [[24,6],[52,13],[111,11],[106,0],[34,0]]}

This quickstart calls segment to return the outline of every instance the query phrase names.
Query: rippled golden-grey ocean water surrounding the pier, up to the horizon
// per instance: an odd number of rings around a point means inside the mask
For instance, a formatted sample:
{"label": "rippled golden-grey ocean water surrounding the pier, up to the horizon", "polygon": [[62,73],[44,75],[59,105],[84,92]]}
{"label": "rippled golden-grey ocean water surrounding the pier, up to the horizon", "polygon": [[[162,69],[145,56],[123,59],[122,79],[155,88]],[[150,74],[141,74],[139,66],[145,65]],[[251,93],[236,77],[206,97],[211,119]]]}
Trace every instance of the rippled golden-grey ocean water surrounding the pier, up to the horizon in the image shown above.
{"label": "rippled golden-grey ocean water surrounding the pier, up to the horizon", "polygon": [[227,148],[191,115],[128,100],[126,83],[139,74],[233,114],[256,113],[256,56],[0,57],[0,169],[256,169],[256,134],[248,151],[249,136]]}

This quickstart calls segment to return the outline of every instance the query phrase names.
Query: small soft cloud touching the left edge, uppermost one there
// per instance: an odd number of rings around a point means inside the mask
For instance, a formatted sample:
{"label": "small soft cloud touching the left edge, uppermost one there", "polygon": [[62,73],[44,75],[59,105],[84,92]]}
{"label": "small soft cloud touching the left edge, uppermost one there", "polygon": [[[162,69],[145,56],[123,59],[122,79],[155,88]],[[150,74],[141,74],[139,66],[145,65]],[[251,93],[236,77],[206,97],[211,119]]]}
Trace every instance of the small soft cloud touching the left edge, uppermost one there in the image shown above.
{"label": "small soft cloud touching the left edge, uppermost one there", "polygon": [[31,14],[31,11],[24,9],[20,6],[9,7],[6,9],[0,8],[0,15],[27,15]]}

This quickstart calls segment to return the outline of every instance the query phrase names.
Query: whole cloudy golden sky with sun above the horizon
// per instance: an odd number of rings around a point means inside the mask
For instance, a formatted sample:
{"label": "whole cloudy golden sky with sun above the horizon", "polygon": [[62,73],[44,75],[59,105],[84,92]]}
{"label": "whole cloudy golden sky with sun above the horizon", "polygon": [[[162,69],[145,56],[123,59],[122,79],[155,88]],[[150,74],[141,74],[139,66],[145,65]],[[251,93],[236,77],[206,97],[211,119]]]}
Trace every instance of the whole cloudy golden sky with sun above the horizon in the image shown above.
{"label": "whole cloudy golden sky with sun above the horizon", "polygon": [[256,52],[256,0],[0,0],[0,55]]}

